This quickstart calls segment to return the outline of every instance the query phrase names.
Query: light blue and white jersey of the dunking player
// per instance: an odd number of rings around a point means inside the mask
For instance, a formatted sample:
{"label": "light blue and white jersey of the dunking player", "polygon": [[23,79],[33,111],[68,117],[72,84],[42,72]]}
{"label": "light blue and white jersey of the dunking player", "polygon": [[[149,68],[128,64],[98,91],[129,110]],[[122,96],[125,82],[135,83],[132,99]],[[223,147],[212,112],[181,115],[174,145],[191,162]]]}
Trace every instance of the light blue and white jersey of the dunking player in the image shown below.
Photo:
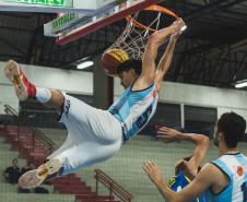
{"label": "light blue and white jersey of the dunking player", "polygon": [[140,132],[153,117],[158,94],[155,84],[142,91],[131,91],[128,87],[120,98],[109,107],[109,112],[116,117],[124,131],[124,141]]}

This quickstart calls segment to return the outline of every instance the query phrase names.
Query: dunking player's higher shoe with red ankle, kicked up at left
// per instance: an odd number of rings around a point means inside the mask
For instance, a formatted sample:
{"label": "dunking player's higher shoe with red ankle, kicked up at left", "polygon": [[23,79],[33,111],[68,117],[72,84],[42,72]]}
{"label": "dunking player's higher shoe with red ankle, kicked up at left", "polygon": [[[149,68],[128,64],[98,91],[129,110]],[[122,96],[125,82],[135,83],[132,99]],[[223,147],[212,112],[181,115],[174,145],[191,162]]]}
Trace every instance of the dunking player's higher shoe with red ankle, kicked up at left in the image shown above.
{"label": "dunking player's higher shoe with red ankle, kicked up at left", "polygon": [[15,93],[20,100],[35,97],[36,87],[28,82],[19,63],[13,60],[8,61],[4,68],[4,73],[13,83]]}

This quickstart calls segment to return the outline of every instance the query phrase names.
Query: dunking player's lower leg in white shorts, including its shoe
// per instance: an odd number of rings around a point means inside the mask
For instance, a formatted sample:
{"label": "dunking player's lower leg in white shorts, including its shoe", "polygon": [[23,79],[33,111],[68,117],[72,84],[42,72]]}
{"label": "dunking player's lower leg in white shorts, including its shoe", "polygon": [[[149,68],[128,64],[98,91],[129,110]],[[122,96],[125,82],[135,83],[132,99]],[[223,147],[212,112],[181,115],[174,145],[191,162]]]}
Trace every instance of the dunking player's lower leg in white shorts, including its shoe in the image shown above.
{"label": "dunking player's lower leg in white shorts, including its shoe", "polygon": [[[121,132],[121,129],[118,132]],[[50,177],[68,175],[83,167],[104,162],[119,151],[122,139],[119,135],[118,140],[109,144],[97,140],[71,143],[67,140],[58,151],[48,156],[46,163],[37,169],[25,173],[19,179],[19,186],[25,189],[35,188]]]}

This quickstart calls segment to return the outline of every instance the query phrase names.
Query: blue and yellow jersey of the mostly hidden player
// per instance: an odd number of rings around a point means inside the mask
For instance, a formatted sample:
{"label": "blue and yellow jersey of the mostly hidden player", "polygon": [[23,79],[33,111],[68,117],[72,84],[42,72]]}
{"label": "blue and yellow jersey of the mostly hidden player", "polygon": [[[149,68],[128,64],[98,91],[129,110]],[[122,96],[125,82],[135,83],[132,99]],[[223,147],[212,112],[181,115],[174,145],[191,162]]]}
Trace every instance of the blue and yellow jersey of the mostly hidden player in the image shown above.
{"label": "blue and yellow jersey of the mostly hidden player", "polygon": [[[168,187],[179,192],[181,189],[184,189],[186,186],[190,183],[190,179],[184,175],[183,171],[180,171],[177,176],[173,176],[168,181]],[[196,198],[192,200],[192,202],[207,202],[207,195],[201,194],[199,198]]]}

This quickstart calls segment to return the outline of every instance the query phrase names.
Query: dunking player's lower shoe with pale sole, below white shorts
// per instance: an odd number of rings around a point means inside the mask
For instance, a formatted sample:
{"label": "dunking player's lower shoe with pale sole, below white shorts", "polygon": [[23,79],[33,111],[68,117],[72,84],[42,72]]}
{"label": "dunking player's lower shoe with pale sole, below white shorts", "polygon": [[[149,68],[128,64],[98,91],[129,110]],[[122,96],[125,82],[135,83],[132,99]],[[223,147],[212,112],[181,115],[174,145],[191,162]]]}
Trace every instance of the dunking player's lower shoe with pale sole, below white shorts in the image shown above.
{"label": "dunking player's lower shoe with pale sole, below white shorts", "polygon": [[56,175],[61,168],[59,159],[50,159],[37,169],[26,171],[19,179],[19,186],[23,189],[38,187],[45,179]]}

